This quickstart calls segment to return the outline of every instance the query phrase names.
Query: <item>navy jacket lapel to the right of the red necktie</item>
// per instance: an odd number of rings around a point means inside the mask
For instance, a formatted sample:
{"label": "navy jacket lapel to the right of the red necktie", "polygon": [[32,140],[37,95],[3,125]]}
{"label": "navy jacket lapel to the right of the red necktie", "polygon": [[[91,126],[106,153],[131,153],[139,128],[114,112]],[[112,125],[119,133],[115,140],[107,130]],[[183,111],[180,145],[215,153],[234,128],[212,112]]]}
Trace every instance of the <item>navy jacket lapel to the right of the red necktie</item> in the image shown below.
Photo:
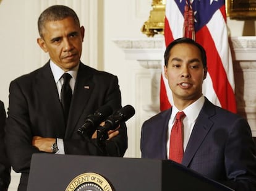
{"label": "navy jacket lapel to the right of the red necktie", "polygon": [[211,121],[210,117],[214,114],[215,108],[213,104],[205,98],[205,104],[203,104],[203,108],[198,115],[189,142],[187,143],[186,151],[184,152],[182,164],[185,166],[189,166],[190,161],[213,126],[213,121]]}

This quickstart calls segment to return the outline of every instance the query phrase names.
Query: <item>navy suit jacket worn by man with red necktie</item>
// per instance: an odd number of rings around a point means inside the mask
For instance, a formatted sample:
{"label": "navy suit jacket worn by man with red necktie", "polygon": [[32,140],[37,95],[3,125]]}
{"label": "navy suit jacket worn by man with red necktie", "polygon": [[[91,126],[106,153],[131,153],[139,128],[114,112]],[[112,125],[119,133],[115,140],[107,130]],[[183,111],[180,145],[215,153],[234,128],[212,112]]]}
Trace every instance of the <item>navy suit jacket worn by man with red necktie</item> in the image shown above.
{"label": "navy suit jacket worn by man with red necktie", "polygon": [[[167,159],[166,138],[172,109],[142,126],[142,158]],[[182,164],[236,190],[256,190],[256,149],[249,124],[242,117],[205,99]]]}

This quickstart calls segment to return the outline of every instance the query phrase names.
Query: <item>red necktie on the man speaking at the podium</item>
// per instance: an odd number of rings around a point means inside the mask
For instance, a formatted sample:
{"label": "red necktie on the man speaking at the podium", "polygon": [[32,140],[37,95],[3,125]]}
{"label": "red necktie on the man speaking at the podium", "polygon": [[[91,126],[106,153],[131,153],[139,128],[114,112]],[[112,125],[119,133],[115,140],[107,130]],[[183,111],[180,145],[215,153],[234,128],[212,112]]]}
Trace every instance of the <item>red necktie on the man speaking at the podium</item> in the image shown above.
{"label": "red necktie on the man speaking at the podium", "polygon": [[183,111],[177,112],[176,119],[171,129],[169,159],[181,163],[183,158],[183,123],[186,116]]}

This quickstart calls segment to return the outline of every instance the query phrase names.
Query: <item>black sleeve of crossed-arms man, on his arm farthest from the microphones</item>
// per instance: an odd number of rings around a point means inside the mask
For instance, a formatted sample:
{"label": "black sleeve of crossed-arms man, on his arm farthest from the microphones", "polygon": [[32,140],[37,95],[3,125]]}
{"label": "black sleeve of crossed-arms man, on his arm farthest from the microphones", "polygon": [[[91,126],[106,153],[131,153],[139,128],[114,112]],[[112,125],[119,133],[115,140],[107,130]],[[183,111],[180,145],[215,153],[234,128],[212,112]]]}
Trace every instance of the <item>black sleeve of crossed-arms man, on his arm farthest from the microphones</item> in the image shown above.
{"label": "black sleeve of crossed-arms man, on his arm farthest from the microphones", "polygon": [[40,151],[32,146],[32,129],[28,103],[17,81],[9,88],[9,108],[6,120],[6,148],[15,172],[29,172],[33,153]]}

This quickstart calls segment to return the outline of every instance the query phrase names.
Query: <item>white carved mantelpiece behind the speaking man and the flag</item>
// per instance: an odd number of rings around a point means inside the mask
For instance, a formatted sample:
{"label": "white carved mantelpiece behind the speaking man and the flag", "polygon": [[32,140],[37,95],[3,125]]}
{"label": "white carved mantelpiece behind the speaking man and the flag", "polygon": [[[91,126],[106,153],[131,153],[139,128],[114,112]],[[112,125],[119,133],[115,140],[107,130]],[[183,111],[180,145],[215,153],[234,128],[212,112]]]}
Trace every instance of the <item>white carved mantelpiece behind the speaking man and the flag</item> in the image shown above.
{"label": "white carved mantelpiece behind the speaking man and the flag", "polygon": [[[151,71],[149,80],[151,80],[151,85],[153,86],[151,87],[152,103],[142,107],[138,105],[137,108],[142,108],[144,112],[150,111],[151,114],[159,112],[158,92],[161,59],[163,59],[164,53],[163,36],[143,40],[126,39],[113,41],[124,51],[126,59],[137,60],[140,67]],[[256,137],[256,37],[232,37],[231,51],[233,52],[237,112],[248,120],[252,134]],[[140,123],[136,125],[141,125]]]}

